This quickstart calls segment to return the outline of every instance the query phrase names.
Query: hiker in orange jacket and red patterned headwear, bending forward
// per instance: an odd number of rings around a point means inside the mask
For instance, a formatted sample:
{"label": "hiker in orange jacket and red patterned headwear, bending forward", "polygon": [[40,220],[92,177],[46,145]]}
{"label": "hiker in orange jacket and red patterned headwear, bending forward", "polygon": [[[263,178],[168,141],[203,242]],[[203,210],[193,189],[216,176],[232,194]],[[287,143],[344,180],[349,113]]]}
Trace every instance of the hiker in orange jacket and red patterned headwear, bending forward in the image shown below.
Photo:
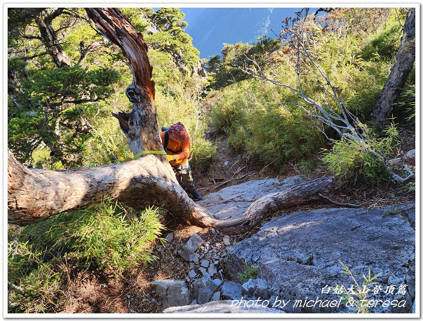
{"label": "hiker in orange jacket and red patterned headwear, bending forward", "polygon": [[162,127],[160,133],[167,159],[175,172],[176,179],[184,189],[192,194],[193,200],[201,199],[195,190],[188,157],[191,151],[191,138],[188,130],[180,122],[168,127]]}

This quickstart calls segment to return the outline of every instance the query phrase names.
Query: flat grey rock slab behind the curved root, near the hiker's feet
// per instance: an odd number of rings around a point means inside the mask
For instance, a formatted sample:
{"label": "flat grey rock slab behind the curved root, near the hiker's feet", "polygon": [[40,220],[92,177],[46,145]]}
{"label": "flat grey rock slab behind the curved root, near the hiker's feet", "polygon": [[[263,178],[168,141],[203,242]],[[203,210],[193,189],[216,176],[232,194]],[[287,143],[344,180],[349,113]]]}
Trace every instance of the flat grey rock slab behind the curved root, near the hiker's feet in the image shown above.
{"label": "flat grey rock slab behind the curved root, near the hiker's feet", "polygon": [[206,199],[199,200],[197,203],[213,213],[218,219],[237,218],[242,216],[248,206],[260,197],[281,192],[301,182],[304,182],[304,179],[300,175],[288,177],[282,181],[276,178],[250,180],[210,193]]}

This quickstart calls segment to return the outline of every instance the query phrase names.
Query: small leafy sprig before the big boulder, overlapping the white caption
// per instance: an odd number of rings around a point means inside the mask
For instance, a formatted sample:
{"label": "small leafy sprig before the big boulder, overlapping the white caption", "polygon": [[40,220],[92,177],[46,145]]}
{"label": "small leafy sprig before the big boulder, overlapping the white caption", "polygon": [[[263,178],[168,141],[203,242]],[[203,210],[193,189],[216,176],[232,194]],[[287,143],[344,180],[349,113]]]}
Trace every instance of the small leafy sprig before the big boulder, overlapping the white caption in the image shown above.
{"label": "small leafy sprig before the big boulder, overlapping the white caption", "polygon": [[336,288],[333,288],[333,290],[339,291],[338,297],[343,298],[343,303],[348,303],[352,310],[357,313],[371,313],[372,307],[367,308],[367,293],[369,292],[368,286],[376,284],[376,282],[373,281],[379,276],[379,274],[372,277],[371,271],[368,269],[368,276],[366,277],[363,274],[363,282],[360,285],[347,265],[343,264],[341,261],[339,261],[339,263],[342,265],[343,269],[341,273],[349,275],[354,281],[356,287],[355,290],[352,288],[351,291],[347,291],[345,286],[339,286],[335,283]]}

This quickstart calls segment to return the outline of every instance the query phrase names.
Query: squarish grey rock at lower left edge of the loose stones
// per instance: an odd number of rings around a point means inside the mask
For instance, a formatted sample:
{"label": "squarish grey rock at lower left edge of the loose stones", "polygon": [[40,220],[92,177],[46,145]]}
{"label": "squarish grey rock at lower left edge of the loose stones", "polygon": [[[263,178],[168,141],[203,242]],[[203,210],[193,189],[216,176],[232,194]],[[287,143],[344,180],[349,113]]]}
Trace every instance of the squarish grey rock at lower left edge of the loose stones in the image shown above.
{"label": "squarish grey rock at lower left edge of the loose stones", "polygon": [[187,305],[190,302],[190,292],[187,284],[181,280],[155,280],[152,284],[159,297],[163,299],[163,308]]}

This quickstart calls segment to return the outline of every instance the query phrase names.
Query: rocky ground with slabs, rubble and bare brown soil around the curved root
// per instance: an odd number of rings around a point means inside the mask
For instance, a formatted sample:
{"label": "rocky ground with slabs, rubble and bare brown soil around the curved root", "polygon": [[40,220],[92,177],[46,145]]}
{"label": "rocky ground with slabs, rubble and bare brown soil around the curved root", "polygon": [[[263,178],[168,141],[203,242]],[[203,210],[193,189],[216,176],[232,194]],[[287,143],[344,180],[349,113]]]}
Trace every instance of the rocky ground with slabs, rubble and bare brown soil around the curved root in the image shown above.
{"label": "rocky ground with slabs, rubble and bare brown soil around the curved root", "polygon": [[[412,134],[403,139],[402,149],[413,148]],[[219,146],[216,159],[207,175],[194,170],[194,179],[204,197],[198,203],[220,219],[242,215],[256,199],[310,178],[294,164],[284,170],[284,177],[277,177],[271,166],[255,165],[228,148],[225,140],[217,137],[214,142]],[[377,302],[373,312],[409,313],[415,299],[413,194],[382,184],[337,188],[327,196],[361,206],[324,202],[296,207],[273,213],[261,226],[233,236],[170,220],[163,243],[154,248],[156,261],[131,271],[124,283],[113,277],[89,283],[75,303],[78,308],[64,312],[354,312],[338,305],[334,293],[336,284],[350,287],[354,282],[341,273],[341,261],[359,284],[368,269],[378,275],[380,290],[372,285],[368,295]],[[405,291],[397,293],[401,286]],[[325,287],[328,293],[322,293]],[[316,299],[323,304],[310,304]],[[395,300],[396,305],[391,304]]]}

